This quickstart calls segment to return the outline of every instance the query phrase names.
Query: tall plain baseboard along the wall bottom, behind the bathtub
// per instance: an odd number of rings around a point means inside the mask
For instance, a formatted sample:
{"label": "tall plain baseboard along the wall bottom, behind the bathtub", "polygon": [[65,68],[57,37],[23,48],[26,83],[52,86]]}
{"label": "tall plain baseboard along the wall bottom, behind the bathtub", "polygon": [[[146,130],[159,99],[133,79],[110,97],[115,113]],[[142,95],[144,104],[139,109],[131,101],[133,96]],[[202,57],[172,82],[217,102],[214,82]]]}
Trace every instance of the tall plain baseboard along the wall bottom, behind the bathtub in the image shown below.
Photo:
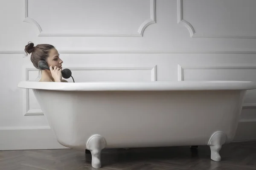
{"label": "tall plain baseboard along the wall bottom, behind the bathtub", "polygon": [[[256,122],[239,122],[233,142],[256,140]],[[0,129],[0,150],[67,149],[48,128]]]}

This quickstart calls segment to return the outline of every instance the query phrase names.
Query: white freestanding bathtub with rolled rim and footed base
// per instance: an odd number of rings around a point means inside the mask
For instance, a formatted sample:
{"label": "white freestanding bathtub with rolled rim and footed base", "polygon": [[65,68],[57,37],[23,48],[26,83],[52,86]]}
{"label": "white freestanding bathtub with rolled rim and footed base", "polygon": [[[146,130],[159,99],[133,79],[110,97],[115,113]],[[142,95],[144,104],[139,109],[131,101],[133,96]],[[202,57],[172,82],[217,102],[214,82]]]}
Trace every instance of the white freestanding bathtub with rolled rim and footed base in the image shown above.
{"label": "white freestanding bathtub with rolled rim and footed base", "polygon": [[[256,82],[29,82],[58,142],[103,148],[209,145],[211,159],[233,140],[246,90]],[[170,153],[172,154],[172,153]]]}

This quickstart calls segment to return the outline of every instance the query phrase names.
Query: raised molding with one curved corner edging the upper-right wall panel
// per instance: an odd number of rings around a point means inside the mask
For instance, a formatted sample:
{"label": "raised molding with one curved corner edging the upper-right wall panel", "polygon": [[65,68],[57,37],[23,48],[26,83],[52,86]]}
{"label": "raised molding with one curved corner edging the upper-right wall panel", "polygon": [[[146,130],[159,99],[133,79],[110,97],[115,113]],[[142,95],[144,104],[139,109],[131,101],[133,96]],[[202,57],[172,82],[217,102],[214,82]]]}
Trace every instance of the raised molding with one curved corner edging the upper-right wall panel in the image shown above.
{"label": "raised molding with one curved corner edging the upper-right wall panel", "polygon": [[177,21],[189,30],[190,37],[192,38],[243,38],[243,39],[255,39],[256,36],[233,36],[233,35],[210,35],[199,34],[195,31],[195,28],[191,23],[183,19],[183,0],[177,0]]}

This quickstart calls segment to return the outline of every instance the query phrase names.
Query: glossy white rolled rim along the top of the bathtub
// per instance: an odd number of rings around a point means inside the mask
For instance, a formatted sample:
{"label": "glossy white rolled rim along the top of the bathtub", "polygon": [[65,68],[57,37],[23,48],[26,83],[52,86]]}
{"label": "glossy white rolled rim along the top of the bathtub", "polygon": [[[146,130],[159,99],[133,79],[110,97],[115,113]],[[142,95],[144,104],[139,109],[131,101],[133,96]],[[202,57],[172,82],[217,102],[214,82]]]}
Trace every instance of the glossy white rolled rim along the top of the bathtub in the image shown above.
{"label": "glossy white rolled rim along the top of the bathtub", "polygon": [[53,91],[217,91],[252,90],[254,81],[155,81],[155,82],[35,82],[21,81],[18,88]]}

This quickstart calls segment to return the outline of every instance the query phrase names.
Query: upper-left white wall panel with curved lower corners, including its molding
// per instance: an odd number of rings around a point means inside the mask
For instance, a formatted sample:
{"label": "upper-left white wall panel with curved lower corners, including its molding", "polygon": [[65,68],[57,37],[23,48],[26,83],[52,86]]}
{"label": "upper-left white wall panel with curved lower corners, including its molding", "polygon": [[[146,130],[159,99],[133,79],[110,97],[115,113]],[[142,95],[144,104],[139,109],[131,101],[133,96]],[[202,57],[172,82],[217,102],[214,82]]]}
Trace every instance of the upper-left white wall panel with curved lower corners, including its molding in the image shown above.
{"label": "upper-left white wall panel with curved lower corners, including its molding", "polygon": [[[38,36],[43,37],[141,37],[145,28],[155,23],[155,0],[25,2],[25,21],[35,24]],[[50,20],[42,15],[45,11]]]}

